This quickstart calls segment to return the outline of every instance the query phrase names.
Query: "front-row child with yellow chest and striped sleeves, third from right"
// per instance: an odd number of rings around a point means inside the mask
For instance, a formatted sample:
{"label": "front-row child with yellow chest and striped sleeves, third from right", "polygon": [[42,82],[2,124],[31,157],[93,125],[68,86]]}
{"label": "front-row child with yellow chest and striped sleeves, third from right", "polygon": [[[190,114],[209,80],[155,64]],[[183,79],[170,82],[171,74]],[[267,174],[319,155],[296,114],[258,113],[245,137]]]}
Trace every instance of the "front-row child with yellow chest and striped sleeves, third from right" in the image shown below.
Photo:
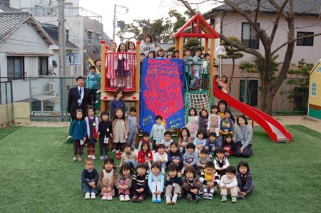
{"label": "front-row child with yellow chest and striped sleeves, third from right", "polygon": [[218,190],[217,185],[220,184],[220,178],[218,173],[215,172],[213,162],[205,164],[205,170],[200,173],[200,182],[202,183],[203,198],[213,199],[213,194]]}

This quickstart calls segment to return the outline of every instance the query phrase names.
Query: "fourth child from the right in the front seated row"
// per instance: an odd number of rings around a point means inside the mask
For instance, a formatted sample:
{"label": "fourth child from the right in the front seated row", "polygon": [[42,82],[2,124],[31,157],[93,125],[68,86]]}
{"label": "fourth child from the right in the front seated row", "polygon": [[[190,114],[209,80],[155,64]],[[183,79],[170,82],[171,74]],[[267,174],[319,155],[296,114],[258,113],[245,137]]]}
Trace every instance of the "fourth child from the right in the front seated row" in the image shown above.
{"label": "fourth child from the right in the front seated row", "polygon": [[196,177],[194,167],[186,167],[184,174],[183,192],[186,194],[186,198],[189,202],[200,202],[200,182],[198,181],[198,177]]}

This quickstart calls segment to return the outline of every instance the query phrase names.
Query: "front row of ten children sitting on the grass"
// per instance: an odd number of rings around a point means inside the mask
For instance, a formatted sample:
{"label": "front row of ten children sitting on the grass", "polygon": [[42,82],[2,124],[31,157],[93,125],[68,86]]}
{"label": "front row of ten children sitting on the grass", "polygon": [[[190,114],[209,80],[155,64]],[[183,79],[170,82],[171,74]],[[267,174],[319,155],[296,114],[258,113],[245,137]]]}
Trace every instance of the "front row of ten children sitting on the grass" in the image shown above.
{"label": "front row of ten children sitting on the grass", "polygon": [[231,195],[232,202],[237,202],[238,197],[244,199],[253,189],[250,167],[245,161],[239,162],[238,173],[235,167],[228,166],[222,177],[215,171],[213,162],[206,162],[199,178],[192,165],[185,168],[183,178],[174,163],[168,165],[168,175],[161,172],[159,162],[154,162],[151,170],[148,170],[146,163],[139,162],[136,172],[133,172],[133,167],[128,162],[124,162],[119,174],[112,157],[106,157],[99,175],[91,157],[86,157],[84,166],[81,186],[85,199],[96,199],[99,190],[101,199],[113,200],[117,189],[121,202],[144,202],[148,194],[151,194],[151,202],[161,203],[161,194],[165,188],[166,204],[176,204],[178,198],[182,197],[182,190],[189,202],[200,202],[202,193],[203,199],[213,199],[220,187],[222,202],[227,201],[228,194]]}

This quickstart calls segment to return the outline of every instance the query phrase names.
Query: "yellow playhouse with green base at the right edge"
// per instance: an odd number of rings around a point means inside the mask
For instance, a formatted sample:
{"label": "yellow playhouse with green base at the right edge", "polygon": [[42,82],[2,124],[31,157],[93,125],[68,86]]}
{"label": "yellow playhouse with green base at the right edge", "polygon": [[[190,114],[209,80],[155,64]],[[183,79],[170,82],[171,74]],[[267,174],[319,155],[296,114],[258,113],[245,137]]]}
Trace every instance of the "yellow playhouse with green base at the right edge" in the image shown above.
{"label": "yellow playhouse with green base at the right edge", "polygon": [[307,115],[321,119],[321,59],[310,71],[309,108]]}

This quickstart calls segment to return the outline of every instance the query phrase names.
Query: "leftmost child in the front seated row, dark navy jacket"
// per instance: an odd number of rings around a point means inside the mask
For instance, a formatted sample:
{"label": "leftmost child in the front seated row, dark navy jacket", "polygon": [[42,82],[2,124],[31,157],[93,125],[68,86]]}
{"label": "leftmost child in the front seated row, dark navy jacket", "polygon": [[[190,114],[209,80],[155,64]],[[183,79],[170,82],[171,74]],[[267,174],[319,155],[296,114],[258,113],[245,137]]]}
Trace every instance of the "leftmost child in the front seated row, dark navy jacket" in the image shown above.
{"label": "leftmost child in the front seated row, dark navy jacket", "polygon": [[81,188],[83,189],[83,194],[85,194],[85,199],[96,199],[96,193],[98,192],[98,172],[93,167],[93,159],[86,157],[84,166],[85,169],[81,172]]}

